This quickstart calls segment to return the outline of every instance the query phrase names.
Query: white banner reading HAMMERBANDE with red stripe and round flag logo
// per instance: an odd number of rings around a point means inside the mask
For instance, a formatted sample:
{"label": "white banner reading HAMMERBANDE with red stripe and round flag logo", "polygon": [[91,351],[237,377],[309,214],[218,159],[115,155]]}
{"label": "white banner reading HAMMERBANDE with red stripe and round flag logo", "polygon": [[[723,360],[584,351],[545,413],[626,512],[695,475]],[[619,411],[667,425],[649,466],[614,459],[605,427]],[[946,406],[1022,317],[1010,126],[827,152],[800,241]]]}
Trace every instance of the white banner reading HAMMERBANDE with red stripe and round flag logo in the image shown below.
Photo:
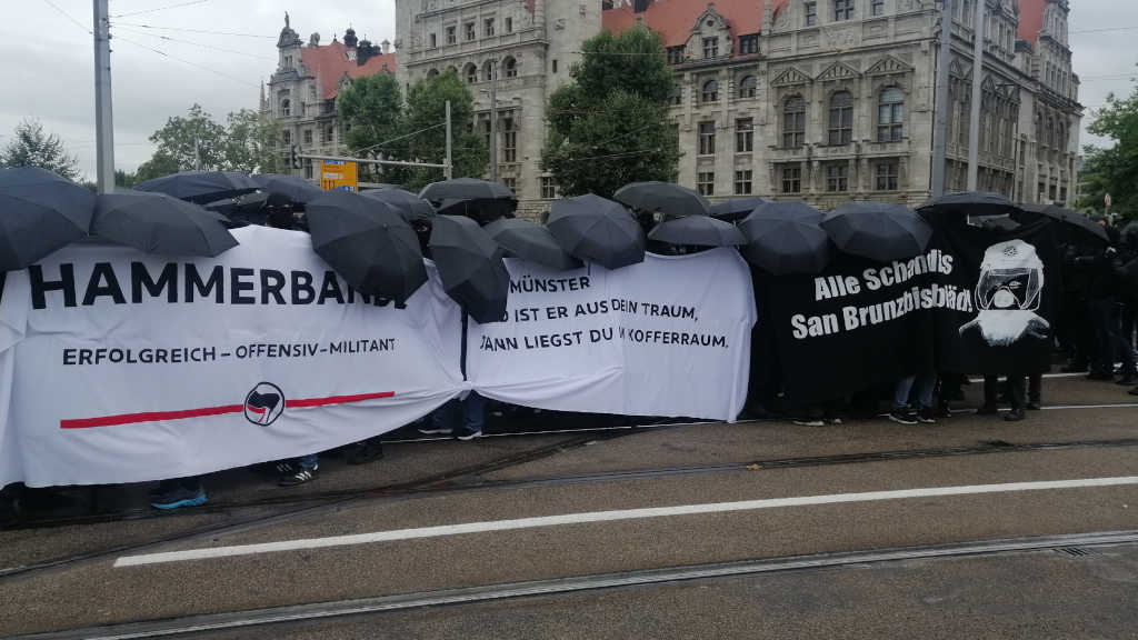
{"label": "white banner reading HAMMERBANDE with red stripe and round flag logo", "polygon": [[[0,486],[141,482],[378,435],[469,386],[431,278],[369,301],[306,233],[236,230],[217,259],[72,246],[7,276]],[[5,410],[7,415],[5,415]]]}

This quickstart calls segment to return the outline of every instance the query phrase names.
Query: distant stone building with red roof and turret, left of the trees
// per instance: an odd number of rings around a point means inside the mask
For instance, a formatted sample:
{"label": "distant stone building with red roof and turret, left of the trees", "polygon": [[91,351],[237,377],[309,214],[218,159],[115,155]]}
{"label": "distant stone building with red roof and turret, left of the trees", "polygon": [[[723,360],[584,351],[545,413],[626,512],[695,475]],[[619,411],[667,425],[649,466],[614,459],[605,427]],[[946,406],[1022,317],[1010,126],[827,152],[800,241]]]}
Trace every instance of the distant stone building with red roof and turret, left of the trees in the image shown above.
{"label": "distant stone building with red roof and turret, left of the trees", "polygon": [[297,145],[305,154],[347,154],[346,132],[336,118],[336,96],[355,77],[394,74],[395,52],[386,40],[378,47],[358,40],[352,27],[344,32],[343,42],[333,35],[330,43],[321,44],[320,34],[313,33],[305,44],[288,14],[277,49],[277,71],[267,91],[261,89],[261,112],[270,114],[279,129],[278,166],[283,173],[319,182],[319,170],[308,161],[302,169],[289,169],[289,149]]}

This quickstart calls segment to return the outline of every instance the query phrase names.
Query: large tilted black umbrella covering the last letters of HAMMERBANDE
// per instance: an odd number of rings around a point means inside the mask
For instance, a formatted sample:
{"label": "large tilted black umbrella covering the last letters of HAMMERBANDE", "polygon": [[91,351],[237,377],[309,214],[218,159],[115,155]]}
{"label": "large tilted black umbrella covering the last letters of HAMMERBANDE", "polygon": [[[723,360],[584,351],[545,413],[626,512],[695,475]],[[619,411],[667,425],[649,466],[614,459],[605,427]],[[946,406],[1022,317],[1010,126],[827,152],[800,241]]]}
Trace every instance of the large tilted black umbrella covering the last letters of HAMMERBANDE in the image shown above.
{"label": "large tilted black umbrella covering the last letters of HAMMERBANDE", "polygon": [[355,290],[403,303],[427,281],[419,238],[390,206],[328,191],[306,211],[312,248]]}

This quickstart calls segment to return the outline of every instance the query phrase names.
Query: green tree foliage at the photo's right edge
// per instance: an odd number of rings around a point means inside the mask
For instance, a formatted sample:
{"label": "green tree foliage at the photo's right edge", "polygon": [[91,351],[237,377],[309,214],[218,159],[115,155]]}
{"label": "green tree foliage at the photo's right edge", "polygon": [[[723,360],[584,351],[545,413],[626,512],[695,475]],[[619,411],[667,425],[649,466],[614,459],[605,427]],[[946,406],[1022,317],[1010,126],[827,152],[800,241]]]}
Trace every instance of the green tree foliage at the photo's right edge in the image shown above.
{"label": "green tree foliage at the photo's right edge", "polygon": [[1112,212],[1138,215],[1138,87],[1129,98],[1106,97],[1106,106],[1095,114],[1088,130],[1114,141],[1111,148],[1083,149],[1082,198],[1080,206],[1103,207],[1111,194]]}

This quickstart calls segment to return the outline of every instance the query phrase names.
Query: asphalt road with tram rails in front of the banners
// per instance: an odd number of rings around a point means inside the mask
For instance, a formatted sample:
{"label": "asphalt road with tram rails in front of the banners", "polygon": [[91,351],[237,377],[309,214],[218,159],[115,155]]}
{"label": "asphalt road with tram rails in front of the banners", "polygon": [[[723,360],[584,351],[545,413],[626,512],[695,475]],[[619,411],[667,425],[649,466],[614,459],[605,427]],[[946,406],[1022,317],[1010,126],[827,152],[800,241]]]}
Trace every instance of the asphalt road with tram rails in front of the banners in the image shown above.
{"label": "asphalt road with tram rails in front of the banners", "polygon": [[[224,504],[214,510],[0,532],[0,635],[237,624],[253,610],[311,615],[406,594],[424,604],[543,581],[552,594],[198,635],[1132,638],[1135,544],[563,589],[582,576],[1138,530],[1138,408],[1119,405],[1131,396],[1057,378],[1045,397],[1080,407],[1019,424],[958,415],[935,426],[691,425],[397,444],[365,467],[332,460],[279,503],[287,490],[221,475],[209,484]],[[396,485],[412,489],[382,489]]]}

